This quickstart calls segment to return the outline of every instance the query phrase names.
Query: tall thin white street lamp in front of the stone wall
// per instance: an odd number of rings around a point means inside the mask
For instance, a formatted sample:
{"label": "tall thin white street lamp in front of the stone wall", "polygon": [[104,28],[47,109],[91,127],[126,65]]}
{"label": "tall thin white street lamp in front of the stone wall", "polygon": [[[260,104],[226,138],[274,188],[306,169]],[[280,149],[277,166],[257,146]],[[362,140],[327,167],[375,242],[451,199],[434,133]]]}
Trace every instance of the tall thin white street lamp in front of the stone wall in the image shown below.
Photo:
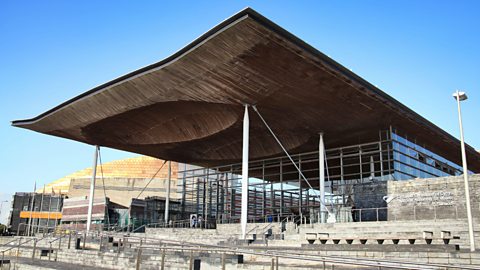
{"label": "tall thin white street lamp in front of the stone wall", "polygon": [[463,181],[465,182],[465,201],[467,204],[467,217],[468,217],[468,235],[470,236],[470,251],[475,251],[475,238],[473,235],[473,220],[472,220],[472,208],[470,206],[470,191],[468,188],[468,170],[467,170],[467,156],[465,154],[465,141],[463,139],[463,125],[462,125],[462,111],[460,109],[460,101],[467,100],[467,94],[465,92],[459,92],[458,90],[453,93],[453,98],[457,100],[458,108],[458,123],[460,125],[460,143],[462,147],[462,164],[463,164]]}

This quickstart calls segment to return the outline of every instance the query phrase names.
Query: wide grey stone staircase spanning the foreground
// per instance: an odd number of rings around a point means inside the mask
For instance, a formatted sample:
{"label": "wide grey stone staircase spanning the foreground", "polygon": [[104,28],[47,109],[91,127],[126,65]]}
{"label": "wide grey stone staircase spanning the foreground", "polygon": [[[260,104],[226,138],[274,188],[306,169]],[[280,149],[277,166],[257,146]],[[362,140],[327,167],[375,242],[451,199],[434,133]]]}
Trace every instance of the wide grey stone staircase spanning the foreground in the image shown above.
{"label": "wide grey stone staircase spanning the foreground", "polygon": [[466,223],[452,220],[285,220],[248,224],[246,239],[239,224],[218,224],[2,241],[3,269],[480,269],[480,253],[468,250]]}

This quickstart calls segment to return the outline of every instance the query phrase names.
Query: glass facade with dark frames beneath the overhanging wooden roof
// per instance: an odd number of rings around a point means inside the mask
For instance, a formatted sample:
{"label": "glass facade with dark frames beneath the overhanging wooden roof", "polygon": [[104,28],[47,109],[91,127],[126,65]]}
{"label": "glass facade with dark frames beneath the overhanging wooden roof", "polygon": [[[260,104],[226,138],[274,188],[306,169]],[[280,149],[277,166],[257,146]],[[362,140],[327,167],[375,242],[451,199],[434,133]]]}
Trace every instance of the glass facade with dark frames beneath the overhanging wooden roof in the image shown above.
{"label": "glass facade with dark frames beneath the overhanging wooden roof", "polygon": [[[383,197],[388,194],[385,181],[462,174],[459,165],[432,150],[394,128],[379,131],[375,141],[326,149],[326,205],[340,213],[342,207],[354,204],[362,209],[359,214],[362,220],[385,220]],[[284,155],[249,162],[249,220],[299,214],[313,219],[318,216],[319,152],[297,153],[291,158],[296,166]],[[185,165],[185,170],[179,172],[182,213],[186,217],[202,215],[217,222],[238,222],[241,174],[239,163],[214,168]]]}

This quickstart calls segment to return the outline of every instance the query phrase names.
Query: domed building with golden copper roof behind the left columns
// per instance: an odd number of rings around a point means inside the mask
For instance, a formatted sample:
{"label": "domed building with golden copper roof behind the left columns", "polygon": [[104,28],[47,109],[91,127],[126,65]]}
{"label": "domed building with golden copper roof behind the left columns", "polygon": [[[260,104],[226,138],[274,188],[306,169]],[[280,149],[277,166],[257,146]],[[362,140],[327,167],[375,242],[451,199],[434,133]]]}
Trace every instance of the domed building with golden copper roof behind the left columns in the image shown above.
{"label": "domed building with golden copper roof behind the left columns", "polygon": [[[171,208],[179,201],[178,166],[176,162],[171,163]],[[163,213],[158,212],[165,210],[168,170],[165,161],[145,156],[97,165],[94,226],[139,227],[147,222],[164,222]],[[62,210],[62,227],[85,228],[91,177],[92,168],[86,168],[46,185],[46,190],[61,191],[68,197]],[[163,208],[147,212],[151,198],[163,198]]]}

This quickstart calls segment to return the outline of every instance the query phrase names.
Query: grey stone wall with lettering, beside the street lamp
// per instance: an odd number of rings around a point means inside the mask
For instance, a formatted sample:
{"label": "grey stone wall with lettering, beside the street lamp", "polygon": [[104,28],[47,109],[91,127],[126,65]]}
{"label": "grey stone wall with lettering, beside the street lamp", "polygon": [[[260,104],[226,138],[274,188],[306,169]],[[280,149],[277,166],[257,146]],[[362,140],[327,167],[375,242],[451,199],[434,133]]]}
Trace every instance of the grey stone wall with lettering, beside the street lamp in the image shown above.
{"label": "grey stone wall with lettering, beside the street lamp", "polygon": [[[472,215],[480,216],[480,174],[469,176]],[[463,176],[389,181],[388,220],[466,218]]]}

